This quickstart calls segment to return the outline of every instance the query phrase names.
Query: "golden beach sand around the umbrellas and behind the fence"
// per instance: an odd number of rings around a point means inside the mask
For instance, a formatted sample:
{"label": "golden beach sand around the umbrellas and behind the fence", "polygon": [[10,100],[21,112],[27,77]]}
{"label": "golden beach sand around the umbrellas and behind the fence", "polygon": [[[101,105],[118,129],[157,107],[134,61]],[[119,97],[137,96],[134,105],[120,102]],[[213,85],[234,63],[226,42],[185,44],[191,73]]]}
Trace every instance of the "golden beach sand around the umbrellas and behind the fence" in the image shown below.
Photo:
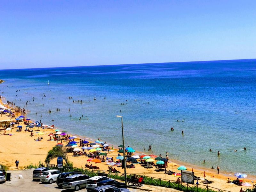
{"label": "golden beach sand around the umbrellas and behind the fence", "polygon": [[[5,120],[5,119],[10,119],[10,117],[3,115],[0,117],[0,120]],[[24,166],[29,165],[30,163],[32,164],[38,164],[39,161],[44,163],[45,157],[47,152],[56,145],[56,141],[49,140],[48,134],[50,132],[54,132],[53,129],[41,129],[40,132],[44,132],[44,135],[42,135],[43,140],[41,141],[35,141],[34,139],[38,138],[39,135],[36,134],[36,132],[39,131],[34,131],[34,137],[30,137],[30,132],[25,132],[25,125],[24,123],[20,123],[20,125],[23,126],[23,131],[22,132],[16,132],[16,127],[12,129],[9,133],[14,134],[13,136],[9,135],[1,135],[0,140],[2,143],[1,146],[1,151],[0,151],[0,164],[6,165],[9,167],[9,169],[16,169],[15,166],[15,160],[19,160],[19,169],[22,169]],[[60,129],[60,128],[59,128]],[[6,131],[8,133],[8,131]],[[0,131],[0,133],[4,133],[4,131]],[[68,134],[72,135],[71,133],[68,132]],[[78,137],[78,138],[85,138],[84,136]],[[102,138],[103,141],[108,141],[107,138]],[[79,141],[79,139],[76,139],[76,141]],[[60,142],[60,141],[58,141]],[[67,142],[64,142],[64,145],[66,145]],[[78,144],[79,145],[79,144]],[[109,144],[111,147],[112,145]],[[81,149],[81,147],[79,147]],[[135,154],[135,153],[134,153]],[[133,154],[133,155],[134,155]],[[139,154],[139,153],[137,153]],[[108,157],[114,157],[114,160],[116,161],[116,156],[117,156],[117,149],[114,149],[114,151],[111,151],[109,154],[107,154]],[[87,162],[86,160],[88,157],[86,156],[72,156],[72,153],[68,153],[68,158],[70,161],[73,162],[74,167],[84,167],[86,163],[90,164],[90,162]],[[57,164],[57,159],[54,159],[51,161],[51,164]],[[127,163],[129,164],[129,163]],[[95,163],[92,163],[92,165],[95,165]],[[96,164],[97,167],[100,167],[99,170],[108,170],[108,165],[106,163],[98,163]],[[220,188],[224,190],[229,190],[229,191],[239,191],[240,186],[236,186],[234,184],[229,184],[227,183],[227,178],[229,177],[231,180],[235,180],[236,177],[232,175],[226,175],[226,174],[216,174],[216,170],[212,172],[211,170],[205,170],[200,167],[196,167],[194,165],[188,165],[182,163],[182,165],[187,166],[188,171],[192,171],[193,167],[195,175],[200,178],[204,178],[204,171],[206,173],[205,179],[207,180],[212,180],[214,183],[209,184],[209,186],[212,186],[214,188]],[[173,171],[174,172],[180,172],[177,170],[178,166],[173,166]],[[124,172],[123,169],[118,168],[115,166],[115,168],[120,171]],[[167,170],[172,170],[172,167],[169,166]],[[162,178],[162,179],[167,179],[167,180],[177,180],[176,177],[172,175],[167,175],[164,174],[163,172],[156,172],[155,168],[151,169],[146,169],[143,166],[140,166],[140,164],[135,164],[134,169],[127,169],[127,173],[135,173],[138,175],[146,175],[148,177],[155,177],[155,178]],[[251,183],[251,180],[255,180],[255,177],[251,177],[250,180],[245,179],[245,182]],[[201,180],[199,180],[200,183]],[[202,184],[202,183],[200,183]],[[245,187],[243,187],[245,188]]]}

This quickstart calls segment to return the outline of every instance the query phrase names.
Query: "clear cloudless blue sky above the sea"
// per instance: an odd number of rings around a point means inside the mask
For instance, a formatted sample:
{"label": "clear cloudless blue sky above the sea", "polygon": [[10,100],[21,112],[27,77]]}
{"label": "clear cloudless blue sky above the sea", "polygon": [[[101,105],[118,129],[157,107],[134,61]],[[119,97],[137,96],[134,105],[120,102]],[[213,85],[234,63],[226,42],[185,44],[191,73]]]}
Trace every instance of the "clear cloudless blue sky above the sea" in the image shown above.
{"label": "clear cloudless blue sky above the sea", "polygon": [[256,58],[256,1],[0,2],[0,69]]}

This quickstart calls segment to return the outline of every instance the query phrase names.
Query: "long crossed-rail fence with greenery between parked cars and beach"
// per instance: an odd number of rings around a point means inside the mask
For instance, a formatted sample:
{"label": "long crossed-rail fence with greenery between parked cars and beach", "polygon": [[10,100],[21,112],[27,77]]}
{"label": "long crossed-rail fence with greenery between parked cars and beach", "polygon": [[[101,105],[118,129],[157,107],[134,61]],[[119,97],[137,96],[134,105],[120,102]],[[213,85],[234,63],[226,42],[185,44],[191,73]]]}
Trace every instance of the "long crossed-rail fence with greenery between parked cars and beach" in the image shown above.
{"label": "long crossed-rail fence with greenery between parked cars and beach", "polygon": [[[51,169],[58,169],[58,166],[55,164],[46,164],[45,167]],[[84,168],[77,168],[77,167],[66,167],[63,166],[62,171],[70,172],[70,171],[77,171],[82,172],[90,177],[98,176],[99,173],[106,173],[108,174],[109,178],[117,179],[117,180],[124,180],[124,173],[112,173],[110,171],[101,171],[101,170],[91,170],[91,169],[84,169]],[[127,173],[127,178],[131,178],[133,174]],[[166,180],[161,178],[155,177],[148,177],[143,176],[144,184],[146,185],[154,185],[154,186],[161,186],[166,188],[174,188],[180,191],[186,192],[231,192],[227,190],[222,190],[218,188],[214,188],[208,185],[203,184],[189,184],[184,182],[177,182],[176,180]]]}

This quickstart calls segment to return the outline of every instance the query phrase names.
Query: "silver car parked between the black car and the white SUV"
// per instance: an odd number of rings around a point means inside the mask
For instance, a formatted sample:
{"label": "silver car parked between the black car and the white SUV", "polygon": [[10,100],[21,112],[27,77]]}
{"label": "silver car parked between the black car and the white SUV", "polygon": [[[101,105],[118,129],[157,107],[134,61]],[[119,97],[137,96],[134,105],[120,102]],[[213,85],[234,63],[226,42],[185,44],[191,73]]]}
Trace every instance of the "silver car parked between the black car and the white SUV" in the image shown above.
{"label": "silver car parked between the black car and the white SUV", "polygon": [[80,188],[86,187],[87,180],[90,179],[88,175],[76,174],[68,176],[64,179],[62,188],[75,189],[78,191]]}

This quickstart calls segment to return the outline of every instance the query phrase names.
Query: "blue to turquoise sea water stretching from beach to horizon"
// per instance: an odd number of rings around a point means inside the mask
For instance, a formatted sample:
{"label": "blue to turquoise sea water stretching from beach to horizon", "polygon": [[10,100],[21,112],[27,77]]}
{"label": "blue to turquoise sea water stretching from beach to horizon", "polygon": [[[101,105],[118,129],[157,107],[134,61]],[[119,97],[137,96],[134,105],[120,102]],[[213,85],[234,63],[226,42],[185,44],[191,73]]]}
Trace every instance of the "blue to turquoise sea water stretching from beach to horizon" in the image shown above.
{"label": "blue to turquoise sea water stretching from beach to horizon", "polygon": [[255,64],[226,60],[0,70],[6,81],[0,91],[21,108],[29,101],[29,118],[74,134],[120,145],[121,119],[115,116],[122,115],[125,143],[135,150],[147,151],[151,144],[156,155],[168,151],[169,158],[186,163],[255,175]]}

